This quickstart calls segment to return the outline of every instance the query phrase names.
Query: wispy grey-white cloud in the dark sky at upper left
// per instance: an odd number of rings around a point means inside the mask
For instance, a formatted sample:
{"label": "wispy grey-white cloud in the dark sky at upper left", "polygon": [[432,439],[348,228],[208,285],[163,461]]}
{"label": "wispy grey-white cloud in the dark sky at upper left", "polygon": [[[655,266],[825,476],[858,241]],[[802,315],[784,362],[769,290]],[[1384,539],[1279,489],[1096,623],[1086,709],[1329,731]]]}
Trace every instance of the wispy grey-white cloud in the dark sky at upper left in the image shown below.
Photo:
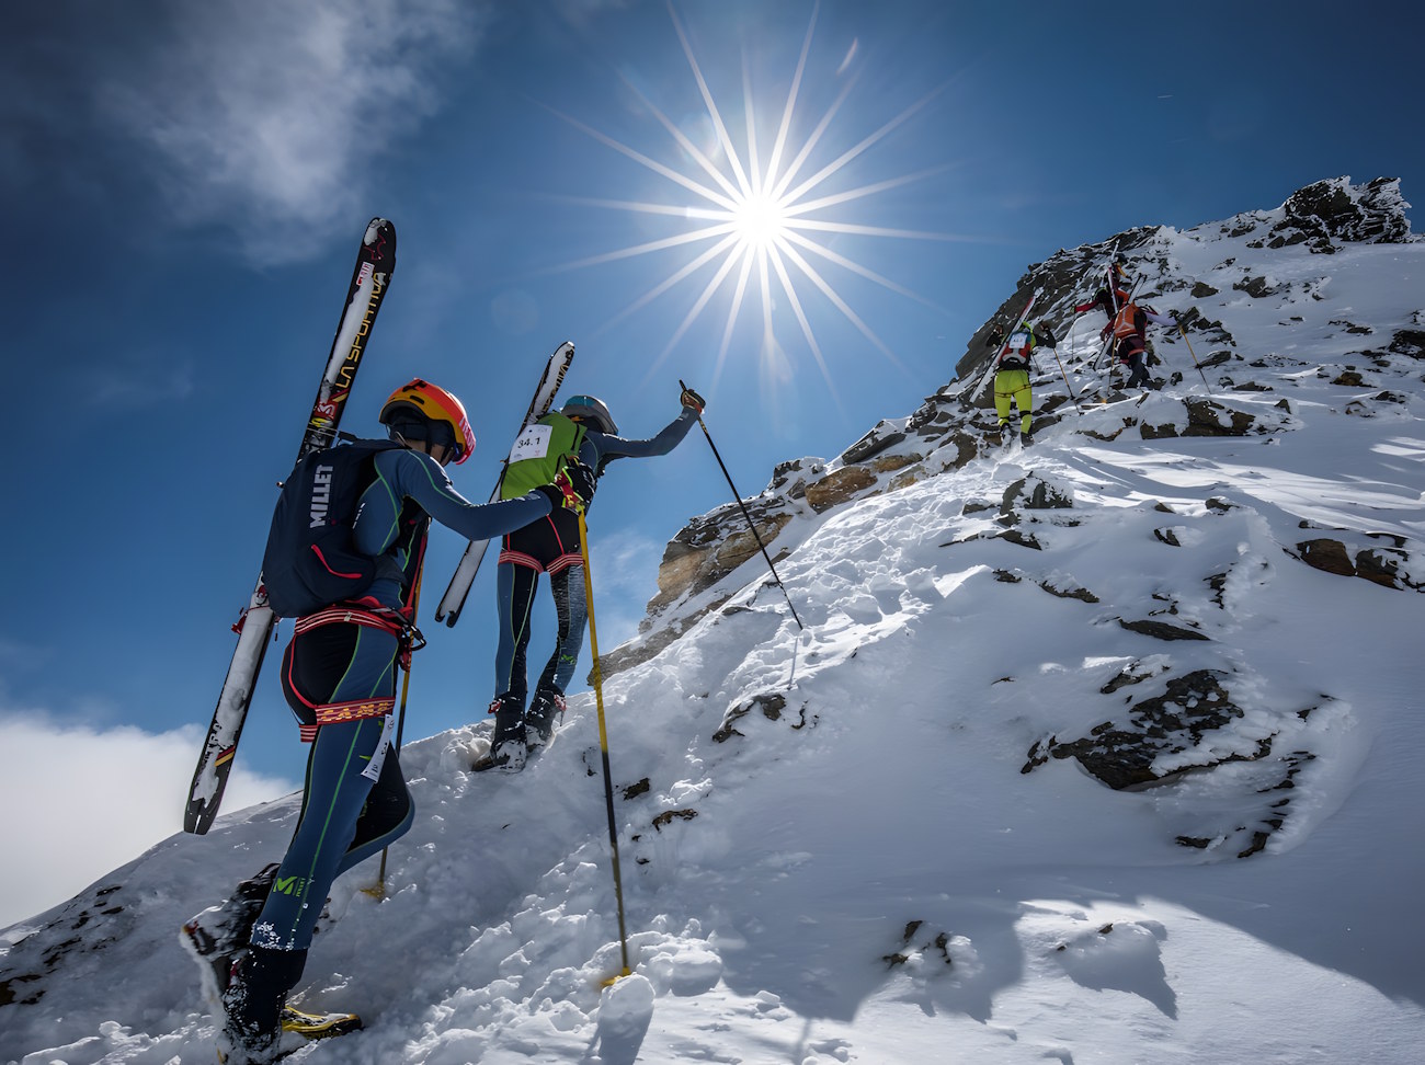
{"label": "wispy grey-white cloud in the dark sky at upper left", "polygon": [[299,258],[369,212],[375,164],[437,110],[440,64],[469,54],[486,10],[459,0],[172,4],[151,51],[98,85],[98,101],[157,149],[181,221],[229,224],[265,262]]}

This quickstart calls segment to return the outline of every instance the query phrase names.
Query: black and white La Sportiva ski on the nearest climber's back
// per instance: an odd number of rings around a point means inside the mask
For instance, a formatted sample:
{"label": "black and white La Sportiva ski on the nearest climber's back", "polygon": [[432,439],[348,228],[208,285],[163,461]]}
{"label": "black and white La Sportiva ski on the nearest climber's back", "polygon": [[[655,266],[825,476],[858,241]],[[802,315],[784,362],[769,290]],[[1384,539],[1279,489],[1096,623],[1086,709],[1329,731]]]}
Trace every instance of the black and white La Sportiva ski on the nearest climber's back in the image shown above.
{"label": "black and white La Sportiva ski on the nearest climber's back", "polygon": [[[390,286],[390,275],[396,269],[396,228],[385,218],[373,218],[366,225],[361,248],[356,253],[356,268],[346,289],[346,302],[336,325],[336,336],[322,370],[322,380],[312,400],[312,413],[302,433],[302,444],[296,463],[306,454],[336,441],[342,411],[356,380],[366,342],[370,339],[376,312]],[[294,466],[296,464],[294,463]],[[238,646],[232,652],[232,663],[222,682],[222,693],[212,712],[208,735],[198,755],[198,766],[188,789],[188,807],[184,813],[184,831],[202,834],[218,816],[218,804],[232,770],[232,759],[242,738],[242,725],[252,703],[252,689],[262,671],[276,618],[266,602],[262,578],[248,599],[248,607],[234,625]]]}

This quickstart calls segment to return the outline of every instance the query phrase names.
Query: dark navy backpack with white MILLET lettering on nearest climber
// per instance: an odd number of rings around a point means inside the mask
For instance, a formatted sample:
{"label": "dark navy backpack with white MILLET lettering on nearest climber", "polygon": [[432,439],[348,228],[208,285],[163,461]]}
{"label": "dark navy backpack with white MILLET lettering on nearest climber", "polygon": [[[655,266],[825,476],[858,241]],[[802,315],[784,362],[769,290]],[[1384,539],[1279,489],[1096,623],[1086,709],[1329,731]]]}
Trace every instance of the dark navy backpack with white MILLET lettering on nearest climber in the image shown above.
{"label": "dark navy backpack with white MILLET lettering on nearest climber", "polygon": [[378,451],[400,444],[356,440],[312,451],[282,486],[266,550],[262,584],[279,618],[301,618],[343,599],[358,599],[376,575],[376,560],[352,545],[361,494],[375,477]]}

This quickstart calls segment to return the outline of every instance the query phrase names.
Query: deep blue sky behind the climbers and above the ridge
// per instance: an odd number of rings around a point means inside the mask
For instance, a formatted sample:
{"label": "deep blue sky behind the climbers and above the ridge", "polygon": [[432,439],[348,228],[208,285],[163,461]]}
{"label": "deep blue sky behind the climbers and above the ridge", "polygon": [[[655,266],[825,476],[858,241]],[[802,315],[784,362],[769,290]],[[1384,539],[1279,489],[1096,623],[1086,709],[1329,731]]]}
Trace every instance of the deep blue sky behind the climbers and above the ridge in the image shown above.
{"label": "deep blue sky behind the climbers and above the ridge", "polygon": [[[0,725],[83,726],[76,766],[100,776],[141,772],[141,755],[113,763],[114,729],[207,725],[372,215],[396,224],[398,268],[343,429],[373,433],[380,400],[428,376],[470,410],[480,446],[453,473],[484,498],[573,339],[566,394],[650,436],[684,377],[752,494],[777,463],[913,410],[1062,246],[1344,174],[1421,195],[1419,85],[1382,56],[1418,28],[1324,3],[17,7]],[[735,269],[690,319],[721,259],[660,290],[712,239],[614,255],[708,224],[621,206],[714,206],[670,177],[711,188],[698,152],[731,174],[700,77],[744,165],[748,98],[765,165],[795,81],[782,161],[815,141],[792,188],[818,178],[804,206],[844,196],[804,219],[862,228],[799,231],[835,299],[784,259],[797,300],[772,275],[774,343],[755,271],[731,330]],[[611,468],[590,517],[603,648],[633,635],[664,542],[728,497],[697,430]],[[460,548],[435,531],[428,602]],[[493,614],[482,572],[456,629],[426,625],[408,736],[484,713]],[[304,759],[269,668],[239,765],[298,780]]]}

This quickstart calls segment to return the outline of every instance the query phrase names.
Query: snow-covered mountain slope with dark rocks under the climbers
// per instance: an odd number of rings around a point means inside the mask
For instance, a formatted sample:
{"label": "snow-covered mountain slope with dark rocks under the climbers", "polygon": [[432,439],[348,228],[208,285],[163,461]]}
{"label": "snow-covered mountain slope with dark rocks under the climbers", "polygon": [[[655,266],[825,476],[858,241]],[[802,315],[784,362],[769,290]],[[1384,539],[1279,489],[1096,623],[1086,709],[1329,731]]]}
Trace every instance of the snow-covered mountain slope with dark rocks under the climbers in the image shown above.
{"label": "snow-covered mountain slope with dark rocks under the climbers", "polygon": [[[1033,447],[966,454],[942,390],[844,501],[785,471],[805,632],[760,555],[654,619],[604,685],[633,977],[593,696],[516,777],[465,772],[483,723],[409,743],[388,896],[336,883],[301,985],[368,1029],[302,1059],[1415,1061],[1425,245],[1250,246],[1285,216],[1134,252],[1207,384],[1160,330],[1180,382],[1097,384],[1086,316]],[[177,927],[296,809],[11,928],[0,1061],[208,1061]]]}

